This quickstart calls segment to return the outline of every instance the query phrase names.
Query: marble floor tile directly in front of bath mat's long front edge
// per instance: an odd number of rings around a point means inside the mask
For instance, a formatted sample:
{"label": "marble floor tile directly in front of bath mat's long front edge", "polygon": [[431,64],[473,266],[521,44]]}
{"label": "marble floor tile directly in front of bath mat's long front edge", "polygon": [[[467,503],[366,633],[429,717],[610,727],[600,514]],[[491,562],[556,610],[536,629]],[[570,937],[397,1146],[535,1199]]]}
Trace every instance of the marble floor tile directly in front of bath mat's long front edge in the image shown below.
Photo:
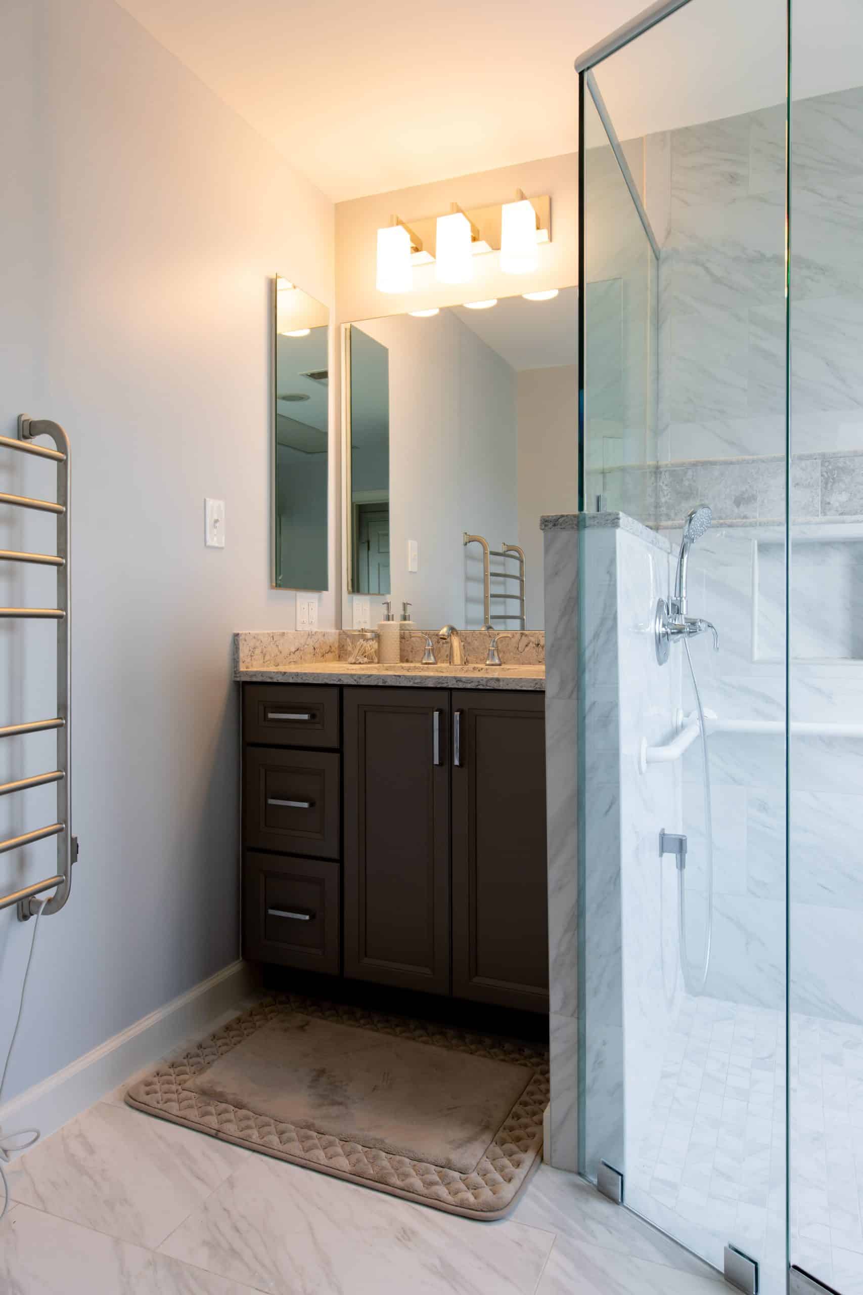
{"label": "marble floor tile directly in front of bath mat's long front edge", "polygon": [[552,1241],[254,1156],[160,1251],[279,1295],[533,1295]]}

